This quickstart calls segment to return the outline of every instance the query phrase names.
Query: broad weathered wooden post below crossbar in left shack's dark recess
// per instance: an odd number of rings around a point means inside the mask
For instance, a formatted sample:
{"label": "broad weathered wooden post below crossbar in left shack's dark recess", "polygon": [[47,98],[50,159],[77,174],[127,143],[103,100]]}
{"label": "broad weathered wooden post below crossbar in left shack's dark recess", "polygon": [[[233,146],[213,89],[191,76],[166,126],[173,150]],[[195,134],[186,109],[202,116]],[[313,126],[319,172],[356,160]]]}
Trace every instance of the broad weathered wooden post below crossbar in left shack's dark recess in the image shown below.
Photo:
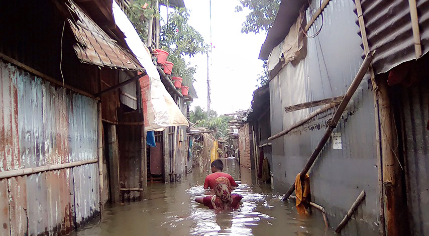
{"label": "broad weathered wooden post below crossbar in left shack's dark recess", "polygon": [[116,134],[116,126],[109,125],[108,132],[109,141],[109,164],[110,164],[110,185],[112,191],[112,202],[121,201],[121,195],[119,190],[119,150],[118,150],[118,138]]}

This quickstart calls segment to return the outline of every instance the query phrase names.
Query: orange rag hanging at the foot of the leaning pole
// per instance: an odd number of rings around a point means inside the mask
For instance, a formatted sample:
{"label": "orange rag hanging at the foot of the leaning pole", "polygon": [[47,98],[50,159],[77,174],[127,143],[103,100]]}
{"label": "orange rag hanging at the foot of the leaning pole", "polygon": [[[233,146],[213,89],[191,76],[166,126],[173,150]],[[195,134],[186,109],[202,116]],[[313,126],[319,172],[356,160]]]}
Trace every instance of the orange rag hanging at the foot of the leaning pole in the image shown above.
{"label": "orange rag hanging at the foot of the leaning pole", "polygon": [[300,174],[295,178],[296,210],[298,214],[308,215],[306,208],[310,201],[310,176],[305,174],[304,181],[301,182]]}

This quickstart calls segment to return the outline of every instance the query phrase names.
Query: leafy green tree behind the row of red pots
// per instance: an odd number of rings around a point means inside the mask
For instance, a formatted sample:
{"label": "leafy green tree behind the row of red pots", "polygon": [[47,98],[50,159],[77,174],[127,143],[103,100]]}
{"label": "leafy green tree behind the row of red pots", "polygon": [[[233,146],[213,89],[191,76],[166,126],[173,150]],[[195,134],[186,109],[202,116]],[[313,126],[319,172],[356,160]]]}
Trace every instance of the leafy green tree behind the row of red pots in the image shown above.
{"label": "leafy green tree behind the row of red pots", "polygon": [[168,51],[168,60],[174,63],[172,73],[183,78],[183,84],[194,82],[196,68],[186,63],[184,56],[193,57],[206,52],[204,39],[192,26],[188,25],[189,12],[185,8],[176,9],[168,15],[168,22],[161,28],[160,45]]}

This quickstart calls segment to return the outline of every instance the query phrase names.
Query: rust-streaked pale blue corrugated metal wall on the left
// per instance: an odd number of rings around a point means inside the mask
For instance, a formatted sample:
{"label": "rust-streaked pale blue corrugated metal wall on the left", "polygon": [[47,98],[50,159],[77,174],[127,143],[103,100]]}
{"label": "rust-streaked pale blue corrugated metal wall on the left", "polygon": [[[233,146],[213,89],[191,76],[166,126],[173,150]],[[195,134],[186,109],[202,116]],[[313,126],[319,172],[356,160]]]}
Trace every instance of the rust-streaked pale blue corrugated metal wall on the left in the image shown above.
{"label": "rust-streaked pale blue corrugated metal wall on the left", "polygon": [[[94,100],[3,61],[0,98],[0,171],[97,158]],[[2,235],[65,234],[99,211],[98,195],[97,163],[2,179]]]}

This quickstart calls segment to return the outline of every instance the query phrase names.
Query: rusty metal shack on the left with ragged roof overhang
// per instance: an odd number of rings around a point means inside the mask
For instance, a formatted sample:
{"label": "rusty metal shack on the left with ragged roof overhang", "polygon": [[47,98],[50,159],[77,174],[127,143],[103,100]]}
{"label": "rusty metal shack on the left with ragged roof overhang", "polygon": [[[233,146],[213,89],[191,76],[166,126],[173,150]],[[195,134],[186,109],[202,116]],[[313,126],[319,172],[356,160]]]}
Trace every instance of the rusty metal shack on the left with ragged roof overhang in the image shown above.
{"label": "rusty metal shack on the left with ragged roof overhang", "polygon": [[146,70],[113,4],[0,2],[1,235],[67,234],[144,198]]}

